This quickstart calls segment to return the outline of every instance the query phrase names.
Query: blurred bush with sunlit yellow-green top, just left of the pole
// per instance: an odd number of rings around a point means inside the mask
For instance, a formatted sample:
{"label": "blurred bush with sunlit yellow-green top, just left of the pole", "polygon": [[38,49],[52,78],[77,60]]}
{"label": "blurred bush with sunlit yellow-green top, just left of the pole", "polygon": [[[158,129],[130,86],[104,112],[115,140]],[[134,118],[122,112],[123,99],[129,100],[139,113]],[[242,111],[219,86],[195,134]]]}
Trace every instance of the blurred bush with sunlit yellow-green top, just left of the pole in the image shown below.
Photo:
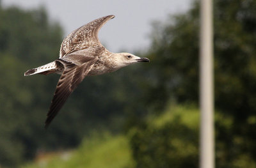
{"label": "blurred bush with sunlit yellow-green top, just left of the pole", "polygon": [[136,167],[198,167],[198,111],[175,107],[129,132]]}

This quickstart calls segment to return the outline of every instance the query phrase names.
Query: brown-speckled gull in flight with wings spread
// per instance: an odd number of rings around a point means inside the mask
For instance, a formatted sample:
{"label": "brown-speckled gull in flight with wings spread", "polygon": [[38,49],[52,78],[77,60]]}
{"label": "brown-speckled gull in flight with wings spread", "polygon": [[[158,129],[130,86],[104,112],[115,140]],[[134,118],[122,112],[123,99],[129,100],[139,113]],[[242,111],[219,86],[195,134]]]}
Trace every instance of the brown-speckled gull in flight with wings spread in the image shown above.
{"label": "brown-speckled gull in flight with wings spread", "polygon": [[133,63],[149,62],[147,57],[138,57],[127,52],[110,52],[100,43],[99,29],[114,17],[101,17],[72,31],[61,43],[59,59],[24,73],[24,76],[37,73],[61,75],[47,113],[45,128],[84,77],[114,72]]}

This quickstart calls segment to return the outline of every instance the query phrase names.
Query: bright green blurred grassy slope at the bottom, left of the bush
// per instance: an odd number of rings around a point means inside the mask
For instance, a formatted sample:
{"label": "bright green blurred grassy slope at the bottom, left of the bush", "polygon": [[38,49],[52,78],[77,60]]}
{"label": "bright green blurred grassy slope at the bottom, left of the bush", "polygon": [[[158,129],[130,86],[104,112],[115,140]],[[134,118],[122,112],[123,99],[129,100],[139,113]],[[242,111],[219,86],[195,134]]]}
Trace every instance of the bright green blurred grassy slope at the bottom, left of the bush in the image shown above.
{"label": "bright green blurred grassy slope at the bottom, left of the bush", "polygon": [[127,138],[104,134],[92,135],[74,151],[51,154],[50,158],[23,167],[128,168],[133,163]]}

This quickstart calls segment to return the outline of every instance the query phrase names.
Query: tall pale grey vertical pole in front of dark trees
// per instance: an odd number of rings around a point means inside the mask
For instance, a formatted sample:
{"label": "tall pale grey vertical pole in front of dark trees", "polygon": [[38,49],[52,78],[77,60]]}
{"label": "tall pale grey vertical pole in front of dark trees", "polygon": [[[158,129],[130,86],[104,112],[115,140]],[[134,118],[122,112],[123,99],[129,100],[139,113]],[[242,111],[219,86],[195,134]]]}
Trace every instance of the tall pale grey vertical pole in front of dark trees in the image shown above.
{"label": "tall pale grey vertical pole in front of dark trees", "polygon": [[200,168],[214,168],[212,0],[200,5]]}

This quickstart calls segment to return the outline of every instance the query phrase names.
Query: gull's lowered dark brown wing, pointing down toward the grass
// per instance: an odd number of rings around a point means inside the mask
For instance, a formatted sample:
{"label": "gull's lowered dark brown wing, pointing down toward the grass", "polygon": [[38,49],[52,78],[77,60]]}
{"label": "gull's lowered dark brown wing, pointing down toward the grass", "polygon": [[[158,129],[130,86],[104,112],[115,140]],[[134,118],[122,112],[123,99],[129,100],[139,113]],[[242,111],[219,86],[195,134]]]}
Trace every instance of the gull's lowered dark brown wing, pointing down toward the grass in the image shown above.
{"label": "gull's lowered dark brown wing, pointing down toward the grass", "polygon": [[[82,54],[83,53],[83,54]],[[45,121],[45,128],[49,126],[52,119],[58,114],[61,107],[66,102],[68,96],[76,89],[78,84],[82,82],[84,77],[90,72],[95,62],[98,60],[97,56],[93,56],[91,52],[85,54],[84,52],[74,52],[57,59],[59,66],[63,66],[64,71],[58,81],[54,96],[52,98],[51,106]]]}

